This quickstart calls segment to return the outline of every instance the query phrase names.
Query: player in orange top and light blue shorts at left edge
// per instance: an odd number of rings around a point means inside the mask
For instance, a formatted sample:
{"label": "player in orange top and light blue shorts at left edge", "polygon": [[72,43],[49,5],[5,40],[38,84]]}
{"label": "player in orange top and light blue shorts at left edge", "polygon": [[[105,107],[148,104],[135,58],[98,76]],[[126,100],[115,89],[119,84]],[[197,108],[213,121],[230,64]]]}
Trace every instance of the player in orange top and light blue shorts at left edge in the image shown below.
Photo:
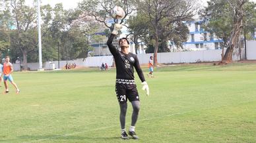
{"label": "player in orange top and light blue shorts at left edge", "polygon": [[18,94],[20,92],[20,89],[18,89],[18,86],[13,81],[13,77],[11,73],[13,72],[13,64],[10,62],[10,57],[7,56],[5,58],[5,63],[3,64],[3,83],[5,83],[5,93],[9,92],[8,85],[7,85],[7,79],[11,82],[13,86],[15,86],[16,93]]}

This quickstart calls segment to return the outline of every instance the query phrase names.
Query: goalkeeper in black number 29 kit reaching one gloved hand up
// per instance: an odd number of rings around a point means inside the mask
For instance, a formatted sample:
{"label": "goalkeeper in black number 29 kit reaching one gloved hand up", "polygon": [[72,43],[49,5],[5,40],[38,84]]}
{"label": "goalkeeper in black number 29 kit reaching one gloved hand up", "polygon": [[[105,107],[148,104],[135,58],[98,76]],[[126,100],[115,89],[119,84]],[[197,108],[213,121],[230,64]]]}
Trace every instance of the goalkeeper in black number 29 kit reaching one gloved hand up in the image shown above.
{"label": "goalkeeper in black number 29 kit reaching one gloved hand up", "polygon": [[133,66],[137,71],[139,78],[143,84],[143,90],[146,90],[146,94],[149,94],[148,85],[144,79],[143,71],[141,70],[139,60],[135,54],[128,51],[129,41],[123,37],[119,39],[119,47],[121,51],[118,51],[112,44],[115,35],[117,35],[118,30],[121,30],[121,24],[115,24],[112,34],[108,38],[108,48],[113,54],[116,65],[116,83],[115,92],[117,94],[117,100],[120,106],[120,124],[121,124],[121,138],[129,139],[127,132],[125,130],[125,115],[127,111],[127,99],[131,102],[133,106],[133,114],[131,117],[131,127],[129,128],[128,134],[134,139],[139,139],[135,133],[135,124],[138,119],[140,102],[139,94],[137,91],[137,86],[135,85]]}

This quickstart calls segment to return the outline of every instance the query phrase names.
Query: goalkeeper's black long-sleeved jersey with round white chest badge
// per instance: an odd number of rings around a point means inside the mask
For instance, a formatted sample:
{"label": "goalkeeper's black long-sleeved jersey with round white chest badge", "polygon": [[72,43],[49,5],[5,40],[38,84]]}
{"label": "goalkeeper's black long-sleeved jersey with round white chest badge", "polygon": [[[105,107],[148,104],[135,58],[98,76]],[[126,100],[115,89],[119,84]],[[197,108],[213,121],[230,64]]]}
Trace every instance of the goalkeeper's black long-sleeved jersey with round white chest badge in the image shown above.
{"label": "goalkeeper's black long-sleeved jersey with round white chest badge", "polygon": [[110,52],[113,54],[115,58],[115,66],[116,66],[116,79],[123,81],[123,79],[127,79],[126,81],[134,82],[134,71],[133,66],[135,67],[141,82],[145,81],[143,71],[141,70],[141,66],[139,64],[139,60],[136,54],[125,54],[121,51],[118,51],[112,44],[115,35],[111,34],[108,38],[108,48]]}

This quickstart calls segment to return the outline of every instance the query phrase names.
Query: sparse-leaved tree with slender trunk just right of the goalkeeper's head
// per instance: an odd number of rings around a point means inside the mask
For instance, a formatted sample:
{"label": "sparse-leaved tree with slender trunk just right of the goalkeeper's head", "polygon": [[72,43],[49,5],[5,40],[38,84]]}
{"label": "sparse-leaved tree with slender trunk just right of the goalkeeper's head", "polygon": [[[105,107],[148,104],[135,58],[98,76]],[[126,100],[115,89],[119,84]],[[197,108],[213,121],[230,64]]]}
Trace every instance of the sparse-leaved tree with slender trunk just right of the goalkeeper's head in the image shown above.
{"label": "sparse-leaved tree with slender trunk just right of the goalkeeper's head", "polygon": [[[189,0],[137,0],[138,10],[149,18],[154,31],[154,66],[157,66],[157,52],[159,47],[160,33],[168,31],[172,25],[190,19],[195,15],[194,1]],[[171,33],[166,32],[169,37]]]}

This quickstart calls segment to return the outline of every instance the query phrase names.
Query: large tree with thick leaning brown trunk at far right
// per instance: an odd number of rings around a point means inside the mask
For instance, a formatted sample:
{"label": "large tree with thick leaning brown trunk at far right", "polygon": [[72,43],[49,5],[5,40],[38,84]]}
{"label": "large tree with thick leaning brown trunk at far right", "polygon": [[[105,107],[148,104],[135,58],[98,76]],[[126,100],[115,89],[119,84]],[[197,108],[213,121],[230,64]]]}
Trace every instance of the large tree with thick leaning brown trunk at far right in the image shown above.
{"label": "large tree with thick leaning brown trunk at far right", "polygon": [[[225,54],[222,49],[221,63],[232,61],[232,54],[234,49],[238,48],[244,21],[250,16],[253,17],[253,14],[255,15],[255,4],[249,3],[247,0],[208,1],[208,7],[203,10],[201,15],[207,22],[205,29],[222,39],[224,47],[227,48]],[[250,22],[253,23],[253,20]]]}

